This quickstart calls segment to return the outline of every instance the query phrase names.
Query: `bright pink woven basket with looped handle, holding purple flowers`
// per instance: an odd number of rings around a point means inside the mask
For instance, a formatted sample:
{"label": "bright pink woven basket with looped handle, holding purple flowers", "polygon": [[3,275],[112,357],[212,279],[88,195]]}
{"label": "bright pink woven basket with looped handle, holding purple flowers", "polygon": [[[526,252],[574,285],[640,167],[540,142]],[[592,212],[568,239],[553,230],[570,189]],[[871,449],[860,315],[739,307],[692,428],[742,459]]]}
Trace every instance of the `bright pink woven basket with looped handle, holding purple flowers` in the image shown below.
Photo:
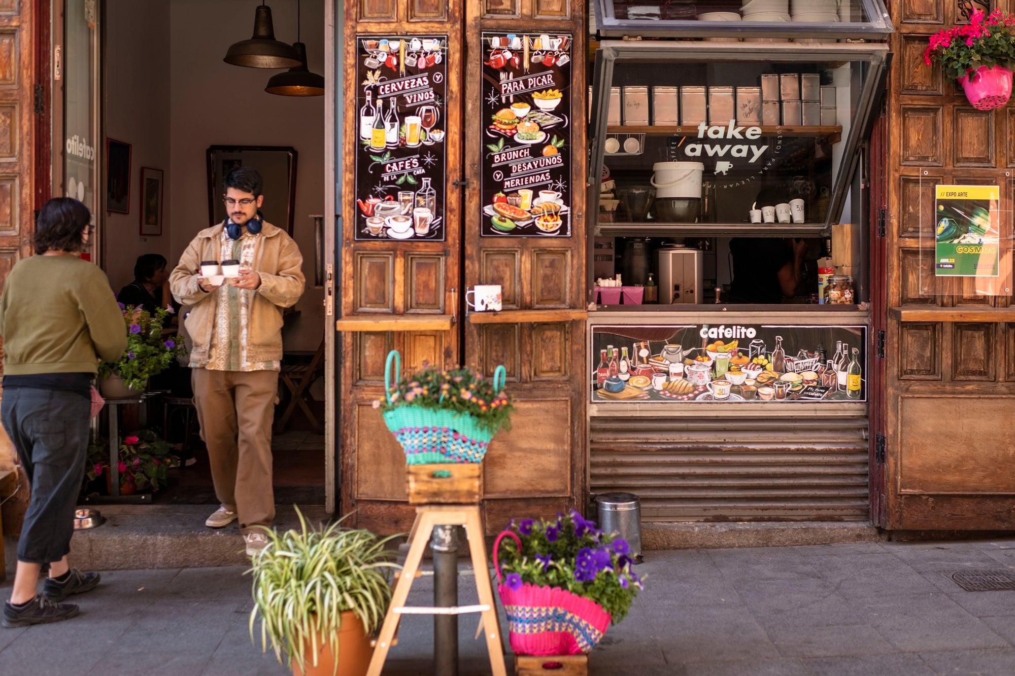
{"label": "bright pink woven basket with looped handle, holding purple flowers", "polygon": [[493,543],[493,567],[497,572],[497,593],[507,615],[507,637],[516,655],[581,655],[590,652],[610,625],[610,614],[591,599],[565,589],[525,583],[518,590],[503,584],[497,548],[510,536],[504,531]]}

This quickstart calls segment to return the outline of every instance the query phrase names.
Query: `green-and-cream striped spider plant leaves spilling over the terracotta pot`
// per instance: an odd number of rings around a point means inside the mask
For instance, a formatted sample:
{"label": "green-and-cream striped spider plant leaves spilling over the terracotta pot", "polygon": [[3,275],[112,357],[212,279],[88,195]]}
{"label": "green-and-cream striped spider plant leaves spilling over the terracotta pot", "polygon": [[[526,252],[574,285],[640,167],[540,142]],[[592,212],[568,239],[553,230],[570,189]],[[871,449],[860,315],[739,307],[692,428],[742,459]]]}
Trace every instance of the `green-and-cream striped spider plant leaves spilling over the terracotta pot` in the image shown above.
{"label": "green-and-cream striped spider plant leaves spilling over the terracotta pot", "polygon": [[391,601],[390,562],[385,544],[396,536],[379,539],[366,530],[344,528],[341,521],[325,530],[308,528],[296,510],[300,528],[279,534],[267,531],[268,546],[253,559],[254,624],[261,617],[261,650],[271,648],[279,663],[293,660],[306,672],[308,657],[317,656],[321,641],[337,661],[341,613],[355,613],[369,635],[381,626]]}

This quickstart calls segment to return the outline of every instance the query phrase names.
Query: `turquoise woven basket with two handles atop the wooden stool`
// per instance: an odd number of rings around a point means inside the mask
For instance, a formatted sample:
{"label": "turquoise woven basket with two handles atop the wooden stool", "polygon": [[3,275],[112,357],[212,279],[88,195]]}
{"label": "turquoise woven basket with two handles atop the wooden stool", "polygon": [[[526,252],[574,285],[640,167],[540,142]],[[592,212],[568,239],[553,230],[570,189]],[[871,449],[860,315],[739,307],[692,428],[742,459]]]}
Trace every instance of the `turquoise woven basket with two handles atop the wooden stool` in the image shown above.
{"label": "turquoise woven basket with two handles atop the wooden stool", "polygon": [[[399,387],[392,385],[392,363],[395,364],[395,374],[402,373],[402,359],[397,350],[388,353],[388,360],[385,363],[384,384],[385,405],[384,421],[388,429],[395,435],[398,443],[405,451],[405,462],[407,465],[425,465],[430,463],[479,463],[486,455],[490,440],[496,428],[503,424],[498,422],[495,425],[485,423],[477,415],[468,410],[462,410],[461,405],[453,406],[458,401],[460,394],[452,393],[451,388],[447,388],[447,393],[434,393],[439,397],[439,402],[448,402],[447,408],[413,405],[409,403],[408,397],[422,398],[429,395],[428,390],[423,393],[426,386],[418,386],[408,390],[408,394],[399,393]],[[428,373],[426,370],[423,371]],[[445,373],[433,369],[429,373]],[[417,379],[419,375],[417,375]],[[492,391],[494,397],[490,401],[477,399],[482,404],[475,404],[482,412],[488,410],[510,409],[511,404],[505,394],[503,394],[504,380],[506,371],[503,366],[497,366],[493,373]],[[412,383],[408,383],[412,385]],[[418,394],[413,394],[416,391]],[[467,400],[471,400],[475,395],[471,390],[463,389],[468,395]],[[473,404],[470,404],[472,406]]]}

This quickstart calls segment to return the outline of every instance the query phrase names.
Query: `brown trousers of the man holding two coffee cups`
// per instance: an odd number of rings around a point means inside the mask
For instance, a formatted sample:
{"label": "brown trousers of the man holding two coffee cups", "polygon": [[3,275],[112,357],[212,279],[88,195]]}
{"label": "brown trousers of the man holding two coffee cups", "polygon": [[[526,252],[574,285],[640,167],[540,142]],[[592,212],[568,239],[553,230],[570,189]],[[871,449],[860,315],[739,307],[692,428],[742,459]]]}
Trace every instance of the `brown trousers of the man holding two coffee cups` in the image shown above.
{"label": "brown trousers of the man holding two coffee cups", "polygon": [[236,513],[243,533],[270,527],[275,518],[271,424],[278,371],[193,368],[192,381],[215,496]]}

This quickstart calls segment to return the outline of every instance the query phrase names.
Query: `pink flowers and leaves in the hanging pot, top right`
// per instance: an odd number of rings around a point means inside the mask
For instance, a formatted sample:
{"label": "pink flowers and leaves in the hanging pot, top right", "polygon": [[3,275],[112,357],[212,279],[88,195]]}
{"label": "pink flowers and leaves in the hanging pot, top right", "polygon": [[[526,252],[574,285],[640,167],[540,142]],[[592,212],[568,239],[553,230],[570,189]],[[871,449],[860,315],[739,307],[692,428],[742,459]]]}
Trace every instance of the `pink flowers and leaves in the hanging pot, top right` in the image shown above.
{"label": "pink flowers and leaves in the hanging pot, top right", "polygon": [[996,9],[985,18],[975,10],[967,24],[931,36],[924,63],[939,64],[952,82],[980,66],[1015,69],[1015,14]]}

